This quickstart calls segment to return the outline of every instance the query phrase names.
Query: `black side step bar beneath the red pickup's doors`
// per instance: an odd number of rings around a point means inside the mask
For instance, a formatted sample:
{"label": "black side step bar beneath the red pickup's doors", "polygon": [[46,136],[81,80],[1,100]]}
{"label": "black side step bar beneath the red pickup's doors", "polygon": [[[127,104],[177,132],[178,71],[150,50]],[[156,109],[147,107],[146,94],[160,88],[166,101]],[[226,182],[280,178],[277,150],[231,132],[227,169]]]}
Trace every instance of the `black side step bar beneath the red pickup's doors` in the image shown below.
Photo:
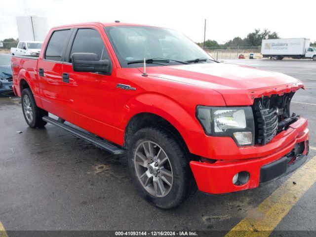
{"label": "black side step bar beneath the red pickup's doors", "polygon": [[106,140],[103,140],[101,138],[97,138],[97,137],[94,137],[90,134],[88,134],[87,132],[83,132],[77,128],[74,128],[72,126],[69,126],[67,124],[64,124],[63,121],[64,120],[56,120],[54,118],[50,118],[48,116],[44,116],[42,118],[44,121],[46,122],[49,122],[53,125],[56,125],[60,128],[63,128],[65,129],[66,131],[72,133],[73,135],[79,137],[79,138],[82,138],[90,143],[92,143],[93,145],[99,147],[99,148],[102,148],[114,155],[119,155],[119,154],[123,154],[124,153],[124,150],[123,149],[120,149],[118,148],[117,146],[111,144],[110,142],[107,142]]}

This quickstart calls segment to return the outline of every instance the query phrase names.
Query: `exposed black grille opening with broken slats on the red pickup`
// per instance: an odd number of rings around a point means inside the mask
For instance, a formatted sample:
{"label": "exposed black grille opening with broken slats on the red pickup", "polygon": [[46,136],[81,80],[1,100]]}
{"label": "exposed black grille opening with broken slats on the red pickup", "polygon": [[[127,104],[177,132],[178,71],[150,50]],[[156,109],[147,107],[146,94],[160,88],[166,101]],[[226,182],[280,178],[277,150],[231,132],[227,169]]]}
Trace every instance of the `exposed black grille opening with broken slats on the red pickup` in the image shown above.
{"label": "exposed black grille opening with broken slats on the red pickup", "polygon": [[290,101],[294,92],[264,96],[254,100],[252,111],[255,120],[255,143],[266,145],[279,132],[299,117],[290,116]]}

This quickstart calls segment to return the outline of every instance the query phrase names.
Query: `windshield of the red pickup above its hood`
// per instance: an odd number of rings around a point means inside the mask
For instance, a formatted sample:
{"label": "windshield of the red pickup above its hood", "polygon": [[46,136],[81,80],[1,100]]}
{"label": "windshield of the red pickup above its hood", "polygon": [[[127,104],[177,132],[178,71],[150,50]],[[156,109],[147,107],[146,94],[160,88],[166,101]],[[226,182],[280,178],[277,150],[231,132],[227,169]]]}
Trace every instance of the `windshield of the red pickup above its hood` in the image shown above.
{"label": "windshield of the red pickup above its hood", "polygon": [[[212,58],[196,43],[184,35],[169,29],[144,26],[105,27],[122,67],[140,67],[142,62],[128,64],[135,60],[163,58],[176,61],[188,61],[197,58]],[[204,60],[202,63],[211,63]],[[166,65],[179,62],[170,61]],[[161,66],[164,63],[148,64]]]}

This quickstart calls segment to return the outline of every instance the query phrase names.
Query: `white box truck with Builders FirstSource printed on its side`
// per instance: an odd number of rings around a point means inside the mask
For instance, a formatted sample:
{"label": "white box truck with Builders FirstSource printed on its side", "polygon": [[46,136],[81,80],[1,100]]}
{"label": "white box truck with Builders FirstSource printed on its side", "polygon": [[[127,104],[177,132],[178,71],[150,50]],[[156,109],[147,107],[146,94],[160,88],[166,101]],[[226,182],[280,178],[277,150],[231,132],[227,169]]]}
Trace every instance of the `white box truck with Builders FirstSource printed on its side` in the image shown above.
{"label": "white box truck with Builders FirstSource printed on its side", "polygon": [[316,61],[316,47],[310,47],[310,39],[270,39],[262,40],[261,54],[264,58],[270,57],[281,60],[290,58],[312,58]]}

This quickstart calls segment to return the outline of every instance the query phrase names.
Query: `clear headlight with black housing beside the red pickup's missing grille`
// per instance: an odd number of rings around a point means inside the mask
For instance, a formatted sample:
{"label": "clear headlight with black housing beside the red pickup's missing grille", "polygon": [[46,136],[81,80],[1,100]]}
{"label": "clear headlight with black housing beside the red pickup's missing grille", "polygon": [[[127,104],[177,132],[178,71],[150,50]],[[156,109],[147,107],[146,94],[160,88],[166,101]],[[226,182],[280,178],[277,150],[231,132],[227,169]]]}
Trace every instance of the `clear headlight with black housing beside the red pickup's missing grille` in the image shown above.
{"label": "clear headlight with black housing beside the red pickup's missing grille", "polygon": [[251,107],[197,106],[197,119],[207,135],[230,136],[238,146],[254,144]]}

